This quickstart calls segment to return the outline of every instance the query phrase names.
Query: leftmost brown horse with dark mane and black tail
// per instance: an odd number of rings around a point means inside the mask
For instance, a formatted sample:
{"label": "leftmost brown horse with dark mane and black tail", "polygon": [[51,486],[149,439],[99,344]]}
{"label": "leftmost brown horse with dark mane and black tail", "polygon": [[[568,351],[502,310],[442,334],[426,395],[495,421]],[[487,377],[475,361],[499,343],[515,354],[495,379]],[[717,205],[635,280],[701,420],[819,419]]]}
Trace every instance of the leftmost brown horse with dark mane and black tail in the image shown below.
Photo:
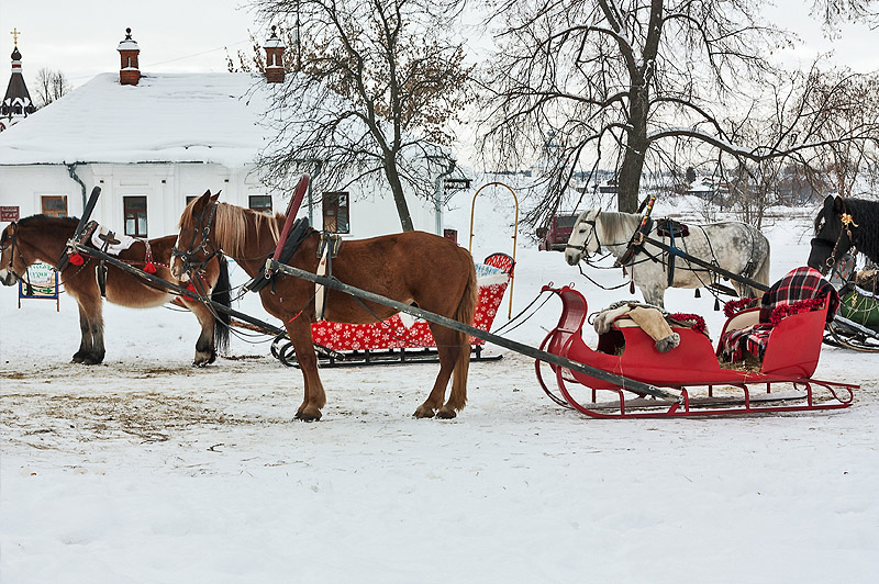
{"label": "leftmost brown horse with dark mane and black tail", "polygon": [[[0,282],[13,285],[19,280],[26,283],[26,268],[42,261],[57,268],[67,242],[74,236],[79,220],[75,217],[51,217],[33,215],[11,223],[0,236]],[[174,235],[149,240],[155,276],[170,279],[168,261],[176,237]],[[98,260],[86,256],[81,266],[68,263],[60,272],[64,289],[79,304],[79,328],[82,340],[74,353],[75,363],[97,364],[103,361],[103,304],[98,285]],[[120,252],[119,259],[135,267],[145,267],[146,246],[136,240],[129,249]],[[123,306],[149,308],[174,300],[175,295],[164,289],[153,288],[146,280],[107,263],[107,300]],[[205,266],[193,287],[201,294],[213,289],[212,300],[229,306],[229,273],[225,260],[214,259]],[[216,349],[224,350],[229,342],[229,316],[221,313],[220,318],[201,302],[181,296],[183,304],[194,313],[201,324],[201,334],[196,342],[197,366],[205,366],[216,358]]]}

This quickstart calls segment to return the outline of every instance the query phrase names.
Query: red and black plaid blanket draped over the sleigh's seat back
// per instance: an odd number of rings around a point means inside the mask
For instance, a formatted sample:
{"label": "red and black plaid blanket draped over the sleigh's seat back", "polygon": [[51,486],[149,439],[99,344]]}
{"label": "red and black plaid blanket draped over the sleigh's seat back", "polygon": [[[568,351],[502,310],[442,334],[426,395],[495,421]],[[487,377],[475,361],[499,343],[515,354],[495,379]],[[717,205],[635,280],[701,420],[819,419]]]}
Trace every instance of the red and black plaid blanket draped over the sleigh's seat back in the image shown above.
{"label": "red and black plaid blanket draped over the sleigh's seat back", "polygon": [[721,357],[727,361],[741,361],[747,351],[763,359],[769,335],[781,318],[821,307],[823,302],[819,299],[825,296],[830,296],[830,322],[839,306],[839,296],[833,285],[812,268],[802,267],[789,271],[763,295],[758,324],[730,330],[721,336]]}

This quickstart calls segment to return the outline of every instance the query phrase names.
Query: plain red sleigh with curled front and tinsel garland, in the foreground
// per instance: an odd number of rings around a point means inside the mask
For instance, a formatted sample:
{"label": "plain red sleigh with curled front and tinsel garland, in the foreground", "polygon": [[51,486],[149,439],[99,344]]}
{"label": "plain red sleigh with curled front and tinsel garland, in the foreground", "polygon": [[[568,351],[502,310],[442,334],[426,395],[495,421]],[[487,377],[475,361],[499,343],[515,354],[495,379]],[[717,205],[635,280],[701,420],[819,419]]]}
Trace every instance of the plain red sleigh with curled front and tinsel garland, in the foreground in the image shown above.
{"label": "plain red sleigh with curled front and tinsel garland, in the foreground", "polygon": [[[537,361],[537,380],[546,394],[559,405],[588,416],[675,417],[833,409],[850,405],[852,390],[858,388],[811,377],[821,352],[826,300],[817,310],[781,318],[769,332],[759,371],[749,372],[722,368],[704,334],[675,325],[672,330],[680,335],[680,345],[668,352],[659,352],[654,339],[627,319],[615,322],[610,332],[599,336],[598,348],[591,349],[581,336],[588,314],[583,295],[569,287],[544,290],[559,295],[563,311],[541,349],[630,380],[680,392],[679,400],[646,398],[620,385],[548,364],[559,395],[545,383],[542,361]],[[758,311],[752,308],[732,316],[724,325],[724,333],[755,324]],[[785,391],[779,392],[781,388]],[[611,394],[613,398],[600,401],[600,394]]]}

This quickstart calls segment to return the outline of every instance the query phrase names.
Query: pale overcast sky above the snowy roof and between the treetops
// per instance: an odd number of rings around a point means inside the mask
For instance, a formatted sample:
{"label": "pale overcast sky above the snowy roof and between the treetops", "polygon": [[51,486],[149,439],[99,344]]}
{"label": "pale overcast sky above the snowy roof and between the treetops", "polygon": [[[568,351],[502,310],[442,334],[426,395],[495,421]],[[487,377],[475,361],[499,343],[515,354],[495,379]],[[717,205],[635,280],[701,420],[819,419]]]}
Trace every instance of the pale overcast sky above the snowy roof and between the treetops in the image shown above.
{"label": "pale overcast sky above the snowy roof and between the treetops", "polygon": [[[126,27],[141,47],[143,71],[225,71],[224,47],[232,54],[248,49],[248,29],[265,36],[254,14],[241,8],[246,4],[246,0],[0,0],[1,89],[9,79],[9,65],[2,63],[12,53],[13,27],[21,32],[19,49],[32,94],[33,79],[43,67],[62,70],[75,87],[97,74],[119,70],[116,46]],[[777,4],[767,10],[767,20],[803,41],[785,56],[787,65],[805,68],[816,54],[833,49],[841,65],[861,72],[879,70],[879,31],[847,26],[842,40],[830,42],[809,16],[811,1]]]}

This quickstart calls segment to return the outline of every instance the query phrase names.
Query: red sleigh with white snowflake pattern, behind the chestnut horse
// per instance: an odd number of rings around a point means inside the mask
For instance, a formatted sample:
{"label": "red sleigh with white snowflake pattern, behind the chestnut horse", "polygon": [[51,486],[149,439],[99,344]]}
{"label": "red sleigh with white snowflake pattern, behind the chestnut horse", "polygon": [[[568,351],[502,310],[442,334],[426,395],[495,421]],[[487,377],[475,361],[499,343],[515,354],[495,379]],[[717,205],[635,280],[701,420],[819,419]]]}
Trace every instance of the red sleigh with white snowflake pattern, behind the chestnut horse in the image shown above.
{"label": "red sleigh with white snowflake pattern, behind the chestnut horse", "polygon": [[[513,277],[514,260],[507,254],[492,254],[477,265],[479,304],[474,314],[474,326],[490,330]],[[322,367],[378,364],[436,360],[436,341],[427,323],[405,323],[399,314],[381,323],[349,325],[321,321],[311,325],[311,336]],[[279,340],[286,341],[279,346]],[[485,341],[470,339],[472,356],[477,361],[500,359],[500,355],[483,355]],[[287,366],[296,366],[292,346],[286,337],[276,339],[272,355]]]}

